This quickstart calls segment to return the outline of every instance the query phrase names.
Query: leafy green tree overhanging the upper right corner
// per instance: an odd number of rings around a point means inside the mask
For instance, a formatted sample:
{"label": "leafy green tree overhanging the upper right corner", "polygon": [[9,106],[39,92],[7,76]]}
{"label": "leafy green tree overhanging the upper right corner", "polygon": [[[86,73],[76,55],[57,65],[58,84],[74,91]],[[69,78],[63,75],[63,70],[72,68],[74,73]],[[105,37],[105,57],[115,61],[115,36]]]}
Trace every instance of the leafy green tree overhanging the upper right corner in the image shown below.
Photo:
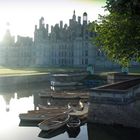
{"label": "leafy green tree overhanging the upper right corner", "polygon": [[[138,0],[107,0],[108,15],[100,16],[92,41],[122,66],[140,62],[140,12]],[[95,26],[93,22],[92,26]]]}

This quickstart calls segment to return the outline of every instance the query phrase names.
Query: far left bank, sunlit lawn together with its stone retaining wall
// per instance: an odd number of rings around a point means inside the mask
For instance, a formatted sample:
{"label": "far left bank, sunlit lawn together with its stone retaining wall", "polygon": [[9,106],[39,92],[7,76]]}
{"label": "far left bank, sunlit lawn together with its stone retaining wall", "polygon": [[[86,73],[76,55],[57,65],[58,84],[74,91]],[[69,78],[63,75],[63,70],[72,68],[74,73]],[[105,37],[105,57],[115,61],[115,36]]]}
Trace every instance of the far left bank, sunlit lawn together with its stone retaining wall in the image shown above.
{"label": "far left bank, sunlit lawn together with its stone retaining wall", "polygon": [[72,68],[0,68],[0,86],[50,82],[50,73],[76,72]]}

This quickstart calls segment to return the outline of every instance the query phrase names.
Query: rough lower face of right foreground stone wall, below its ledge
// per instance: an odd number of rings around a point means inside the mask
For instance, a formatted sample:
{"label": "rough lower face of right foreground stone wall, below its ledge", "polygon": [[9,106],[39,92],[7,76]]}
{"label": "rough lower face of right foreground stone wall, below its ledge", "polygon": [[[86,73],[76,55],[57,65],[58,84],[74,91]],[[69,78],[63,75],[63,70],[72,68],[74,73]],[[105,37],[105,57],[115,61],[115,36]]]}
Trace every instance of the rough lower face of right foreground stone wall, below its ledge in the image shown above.
{"label": "rough lower face of right foreground stone wall, below its ledge", "polygon": [[90,103],[88,121],[140,128],[140,101],[128,105]]}

